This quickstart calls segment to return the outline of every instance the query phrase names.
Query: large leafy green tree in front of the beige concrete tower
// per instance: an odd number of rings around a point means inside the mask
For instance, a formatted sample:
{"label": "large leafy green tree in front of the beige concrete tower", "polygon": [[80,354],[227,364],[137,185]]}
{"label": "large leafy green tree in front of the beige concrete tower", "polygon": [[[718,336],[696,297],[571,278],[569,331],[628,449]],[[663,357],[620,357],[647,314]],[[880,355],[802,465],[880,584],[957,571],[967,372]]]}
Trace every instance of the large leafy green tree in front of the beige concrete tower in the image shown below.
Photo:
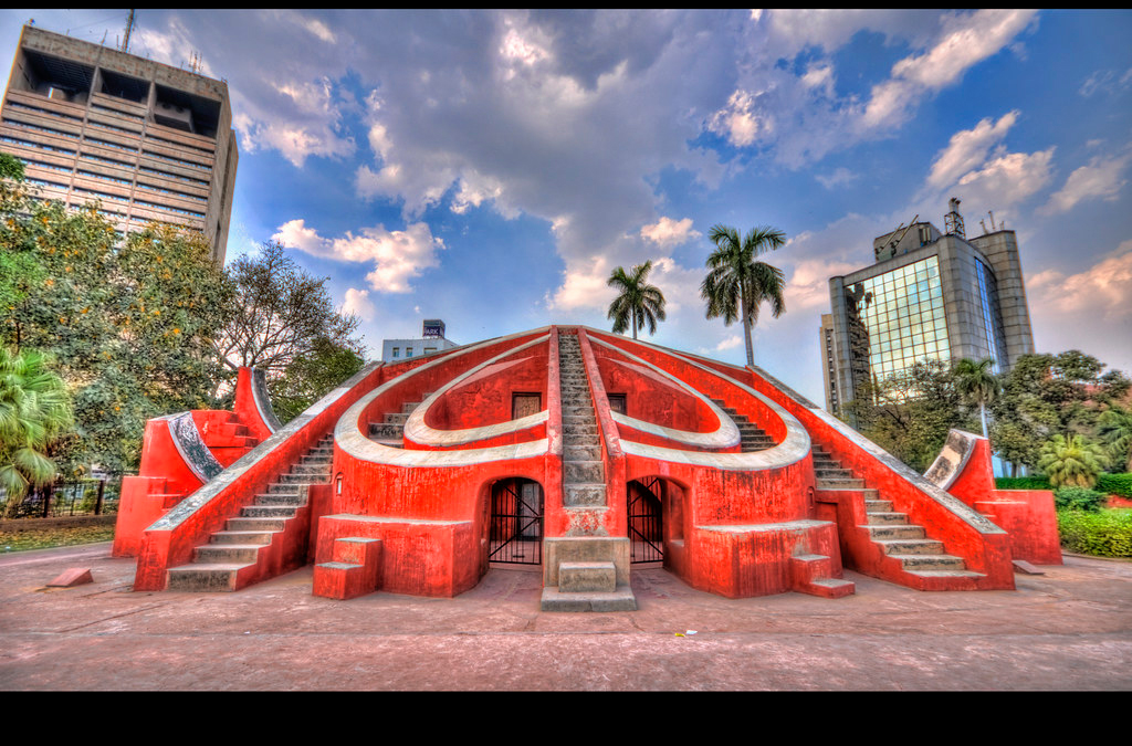
{"label": "large leafy green tree in front of the beige concrete tower", "polygon": [[76,420],[61,468],[132,469],[147,419],[209,405],[230,284],[199,233],[123,238],[97,205],[68,211],[23,187],[0,187],[0,256],[19,268],[0,281],[0,344],[57,361]]}

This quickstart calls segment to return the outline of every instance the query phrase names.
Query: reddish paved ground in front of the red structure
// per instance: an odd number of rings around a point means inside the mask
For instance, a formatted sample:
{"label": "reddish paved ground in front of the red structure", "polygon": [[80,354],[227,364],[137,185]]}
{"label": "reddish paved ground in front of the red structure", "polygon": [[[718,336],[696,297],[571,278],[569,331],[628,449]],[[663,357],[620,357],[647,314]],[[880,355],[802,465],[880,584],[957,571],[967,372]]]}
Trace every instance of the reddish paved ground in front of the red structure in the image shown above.
{"label": "reddish paved ground in front of the red structure", "polygon": [[[68,567],[95,582],[44,588]],[[310,568],[134,593],[109,543],[19,552],[0,556],[0,689],[1132,689],[1132,563],[1043,569],[981,593],[847,573],[839,600],[728,600],[646,569],[640,611],[549,614],[522,572],[332,601]]]}

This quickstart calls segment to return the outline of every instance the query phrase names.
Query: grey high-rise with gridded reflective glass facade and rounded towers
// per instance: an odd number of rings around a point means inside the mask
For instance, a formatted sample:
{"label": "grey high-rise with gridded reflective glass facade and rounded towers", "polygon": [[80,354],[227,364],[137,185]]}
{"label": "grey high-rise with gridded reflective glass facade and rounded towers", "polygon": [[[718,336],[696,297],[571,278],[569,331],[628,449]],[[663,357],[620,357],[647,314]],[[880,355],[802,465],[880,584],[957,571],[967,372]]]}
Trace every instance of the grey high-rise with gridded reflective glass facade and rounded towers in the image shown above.
{"label": "grey high-rise with gridded reflective glass facade and rounded towers", "polygon": [[1034,352],[1018,239],[992,225],[967,238],[952,199],[945,233],[914,218],[873,241],[875,264],[830,277],[832,314],[821,329],[826,410],[925,359],[992,358],[1005,372]]}

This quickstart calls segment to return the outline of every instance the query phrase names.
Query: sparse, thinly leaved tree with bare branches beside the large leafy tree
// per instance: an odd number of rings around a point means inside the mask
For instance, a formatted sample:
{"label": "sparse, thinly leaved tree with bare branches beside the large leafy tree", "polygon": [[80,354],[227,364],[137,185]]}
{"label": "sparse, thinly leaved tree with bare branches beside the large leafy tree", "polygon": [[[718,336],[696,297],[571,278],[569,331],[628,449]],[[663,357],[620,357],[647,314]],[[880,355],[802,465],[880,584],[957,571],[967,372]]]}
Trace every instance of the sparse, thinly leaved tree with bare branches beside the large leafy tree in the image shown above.
{"label": "sparse, thinly leaved tree with bare branches beside the large leafy tree", "polygon": [[216,340],[216,352],[234,377],[241,366],[280,376],[299,357],[310,355],[319,340],[360,353],[353,337],[359,320],[338,314],[326,289],[327,277],[307,274],[268,241],[254,256],[232,263],[235,301]]}

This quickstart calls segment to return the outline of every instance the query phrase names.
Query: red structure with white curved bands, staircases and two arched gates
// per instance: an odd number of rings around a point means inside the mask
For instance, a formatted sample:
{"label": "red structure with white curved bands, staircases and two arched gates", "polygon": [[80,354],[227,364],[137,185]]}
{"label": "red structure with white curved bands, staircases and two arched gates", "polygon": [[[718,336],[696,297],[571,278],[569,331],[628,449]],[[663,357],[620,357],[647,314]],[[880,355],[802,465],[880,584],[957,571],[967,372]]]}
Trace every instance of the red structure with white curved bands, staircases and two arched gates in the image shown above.
{"label": "red structure with white curved bands, staircases and two arched gates", "polygon": [[1015,557],[1060,561],[1056,528],[1034,523],[1052,496],[1010,507],[981,456],[949,492],[758,368],[592,328],[370,363],[285,427],[241,381],[234,418],[263,440],[207,479],[182,441],[218,414],[149,423],[149,481],[123,489],[115,542],[138,556],[135,590],[238,590],[314,563],[317,595],[451,597],[498,563],[539,569],[546,610],[625,610],[646,565],[729,598],[839,598],[846,567],[1002,590]]}

